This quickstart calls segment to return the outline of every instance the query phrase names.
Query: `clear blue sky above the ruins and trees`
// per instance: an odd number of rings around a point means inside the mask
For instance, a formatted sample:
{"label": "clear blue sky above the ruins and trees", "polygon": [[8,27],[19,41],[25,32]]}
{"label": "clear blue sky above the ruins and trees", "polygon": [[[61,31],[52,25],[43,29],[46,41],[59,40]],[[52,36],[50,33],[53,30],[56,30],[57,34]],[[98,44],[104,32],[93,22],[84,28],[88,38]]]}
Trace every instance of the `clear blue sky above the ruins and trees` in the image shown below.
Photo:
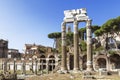
{"label": "clear blue sky above the ruins and trees", "polygon": [[0,38],[20,51],[26,43],[52,46],[47,35],[61,31],[64,10],[87,8],[92,24],[102,25],[120,15],[119,4],[120,0],[0,0]]}

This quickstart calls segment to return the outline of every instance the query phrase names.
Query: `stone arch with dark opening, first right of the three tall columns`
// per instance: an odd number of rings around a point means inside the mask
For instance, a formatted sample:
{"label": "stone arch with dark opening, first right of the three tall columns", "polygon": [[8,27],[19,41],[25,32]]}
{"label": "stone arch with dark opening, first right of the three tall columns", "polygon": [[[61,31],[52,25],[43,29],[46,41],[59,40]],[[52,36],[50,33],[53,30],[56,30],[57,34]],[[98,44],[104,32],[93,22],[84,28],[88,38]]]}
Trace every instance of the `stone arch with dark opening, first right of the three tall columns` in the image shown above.
{"label": "stone arch with dark opening, first right of the three tall columns", "polygon": [[94,69],[99,70],[100,68],[107,69],[108,57],[106,55],[98,55],[94,60]]}

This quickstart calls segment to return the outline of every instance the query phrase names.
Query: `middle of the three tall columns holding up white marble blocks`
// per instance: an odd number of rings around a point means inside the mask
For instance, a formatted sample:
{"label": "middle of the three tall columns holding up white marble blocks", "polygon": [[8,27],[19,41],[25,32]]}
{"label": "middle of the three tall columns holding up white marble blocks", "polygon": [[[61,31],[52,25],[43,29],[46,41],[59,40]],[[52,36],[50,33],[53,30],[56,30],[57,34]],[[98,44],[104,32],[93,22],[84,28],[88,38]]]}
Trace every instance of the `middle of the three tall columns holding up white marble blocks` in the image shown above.
{"label": "middle of the three tall columns holding up white marble blocks", "polygon": [[74,21],[74,70],[79,70],[78,22]]}

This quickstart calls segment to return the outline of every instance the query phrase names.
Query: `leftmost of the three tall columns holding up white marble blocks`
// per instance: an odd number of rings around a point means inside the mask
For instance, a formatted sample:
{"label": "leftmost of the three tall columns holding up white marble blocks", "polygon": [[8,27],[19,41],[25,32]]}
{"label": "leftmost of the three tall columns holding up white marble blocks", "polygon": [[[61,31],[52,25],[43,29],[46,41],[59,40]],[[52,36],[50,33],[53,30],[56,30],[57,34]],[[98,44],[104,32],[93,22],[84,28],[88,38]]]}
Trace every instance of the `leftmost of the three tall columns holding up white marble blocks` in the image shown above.
{"label": "leftmost of the three tall columns holding up white marble blocks", "polygon": [[62,28],[62,65],[61,70],[67,71],[67,54],[66,54],[66,23],[61,24]]}

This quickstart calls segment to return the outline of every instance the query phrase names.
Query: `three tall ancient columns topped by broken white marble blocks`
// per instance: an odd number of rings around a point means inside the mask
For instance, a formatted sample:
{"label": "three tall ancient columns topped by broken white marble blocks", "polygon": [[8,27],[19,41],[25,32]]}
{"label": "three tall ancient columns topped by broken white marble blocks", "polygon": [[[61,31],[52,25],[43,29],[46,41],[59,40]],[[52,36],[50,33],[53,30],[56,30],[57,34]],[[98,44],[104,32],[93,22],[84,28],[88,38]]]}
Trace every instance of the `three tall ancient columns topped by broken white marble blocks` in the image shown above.
{"label": "three tall ancient columns topped by broken white marble blocks", "polygon": [[74,71],[79,70],[79,48],[78,48],[78,23],[86,22],[87,31],[87,71],[92,71],[92,35],[91,35],[91,22],[92,20],[87,16],[85,8],[77,10],[64,11],[64,19],[61,24],[62,28],[62,65],[61,71],[67,71],[67,58],[66,58],[66,24],[73,23],[74,25]]}

